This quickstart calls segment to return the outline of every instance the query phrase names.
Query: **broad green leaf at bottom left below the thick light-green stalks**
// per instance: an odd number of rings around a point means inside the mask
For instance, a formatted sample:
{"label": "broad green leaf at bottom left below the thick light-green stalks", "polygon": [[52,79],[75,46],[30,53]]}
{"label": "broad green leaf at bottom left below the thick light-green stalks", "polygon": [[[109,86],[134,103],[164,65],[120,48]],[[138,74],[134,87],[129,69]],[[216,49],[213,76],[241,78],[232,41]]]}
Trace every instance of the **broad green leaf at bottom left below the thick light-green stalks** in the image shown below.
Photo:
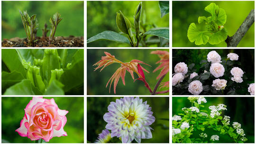
{"label": "broad green leaf at bottom left below the thick light-green stalks", "polygon": [[42,93],[29,80],[22,80],[9,87],[4,95],[42,95]]}

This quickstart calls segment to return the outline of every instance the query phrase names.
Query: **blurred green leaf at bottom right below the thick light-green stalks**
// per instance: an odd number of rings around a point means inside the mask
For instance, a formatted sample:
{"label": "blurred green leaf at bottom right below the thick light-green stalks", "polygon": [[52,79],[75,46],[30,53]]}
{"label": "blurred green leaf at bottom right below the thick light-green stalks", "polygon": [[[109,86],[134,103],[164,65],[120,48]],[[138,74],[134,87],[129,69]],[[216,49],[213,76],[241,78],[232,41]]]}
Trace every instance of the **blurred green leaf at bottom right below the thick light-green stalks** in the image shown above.
{"label": "blurred green leaf at bottom right below the thick light-green stalks", "polygon": [[64,85],[61,82],[53,80],[44,95],[64,95],[63,87]]}

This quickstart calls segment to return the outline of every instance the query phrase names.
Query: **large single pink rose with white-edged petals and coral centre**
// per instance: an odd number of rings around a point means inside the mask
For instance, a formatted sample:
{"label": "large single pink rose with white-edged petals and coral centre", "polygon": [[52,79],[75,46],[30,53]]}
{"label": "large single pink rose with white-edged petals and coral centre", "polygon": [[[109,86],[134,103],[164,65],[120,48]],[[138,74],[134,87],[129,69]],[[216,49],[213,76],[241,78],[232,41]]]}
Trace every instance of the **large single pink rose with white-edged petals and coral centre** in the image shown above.
{"label": "large single pink rose with white-edged petals and coral centre", "polygon": [[63,129],[67,113],[68,111],[58,108],[54,99],[35,97],[27,104],[25,116],[16,132],[32,141],[42,138],[49,142],[54,136],[67,136]]}

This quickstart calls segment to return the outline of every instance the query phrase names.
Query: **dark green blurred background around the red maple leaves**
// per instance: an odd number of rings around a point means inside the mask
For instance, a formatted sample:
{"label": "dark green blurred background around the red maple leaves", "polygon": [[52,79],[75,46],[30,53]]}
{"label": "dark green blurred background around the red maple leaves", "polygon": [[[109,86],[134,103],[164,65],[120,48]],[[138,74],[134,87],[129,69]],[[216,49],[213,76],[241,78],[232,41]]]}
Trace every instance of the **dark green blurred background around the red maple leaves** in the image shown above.
{"label": "dark green blurred background around the red maple leaves", "polygon": [[[94,69],[97,66],[92,66],[94,63],[97,63],[101,60],[101,56],[105,56],[104,52],[108,52],[124,63],[128,63],[133,59],[137,59],[143,61],[146,64],[141,64],[148,72],[144,71],[145,78],[151,90],[154,90],[155,84],[158,80],[156,77],[159,75],[161,70],[153,72],[155,68],[159,64],[155,64],[160,60],[158,55],[150,54],[150,52],[155,51],[156,49],[87,49],[87,95],[114,95],[113,84],[111,85],[110,92],[109,86],[106,88],[107,82],[110,80],[111,76],[116,72],[116,70],[120,67],[119,63],[113,63],[106,68],[104,68],[101,72],[101,69],[98,69],[94,72]],[[162,49],[164,51],[168,51],[169,49]],[[137,79],[138,76],[134,72],[134,78]],[[117,84],[116,95],[150,95],[149,90],[145,87],[145,84],[142,81],[135,81],[132,79],[129,72],[126,72],[125,76],[125,86],[122,83],[121,78]],[[169,73],[165,75],[165,78],[162,82],[169,81]],[[169,88],[162,88],[157,91],[169,90]],[[162,95],[169,95],[169,93],[165,93]]]}

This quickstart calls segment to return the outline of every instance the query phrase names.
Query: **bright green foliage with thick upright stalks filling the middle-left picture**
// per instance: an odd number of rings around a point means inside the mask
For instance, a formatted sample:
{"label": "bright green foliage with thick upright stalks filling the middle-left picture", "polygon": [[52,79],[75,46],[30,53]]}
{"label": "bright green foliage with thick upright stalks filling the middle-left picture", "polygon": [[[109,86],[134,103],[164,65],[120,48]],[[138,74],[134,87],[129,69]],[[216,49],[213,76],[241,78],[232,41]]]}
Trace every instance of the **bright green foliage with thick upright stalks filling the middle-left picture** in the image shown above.
{"label": "bright green foliage with thick upright stalks filling the middle-left picture", "polygon": [[2,54],[8,56],[2,55],[8,70],[2,71],[5,95],[83,94],[83,49],[4,49]]}

